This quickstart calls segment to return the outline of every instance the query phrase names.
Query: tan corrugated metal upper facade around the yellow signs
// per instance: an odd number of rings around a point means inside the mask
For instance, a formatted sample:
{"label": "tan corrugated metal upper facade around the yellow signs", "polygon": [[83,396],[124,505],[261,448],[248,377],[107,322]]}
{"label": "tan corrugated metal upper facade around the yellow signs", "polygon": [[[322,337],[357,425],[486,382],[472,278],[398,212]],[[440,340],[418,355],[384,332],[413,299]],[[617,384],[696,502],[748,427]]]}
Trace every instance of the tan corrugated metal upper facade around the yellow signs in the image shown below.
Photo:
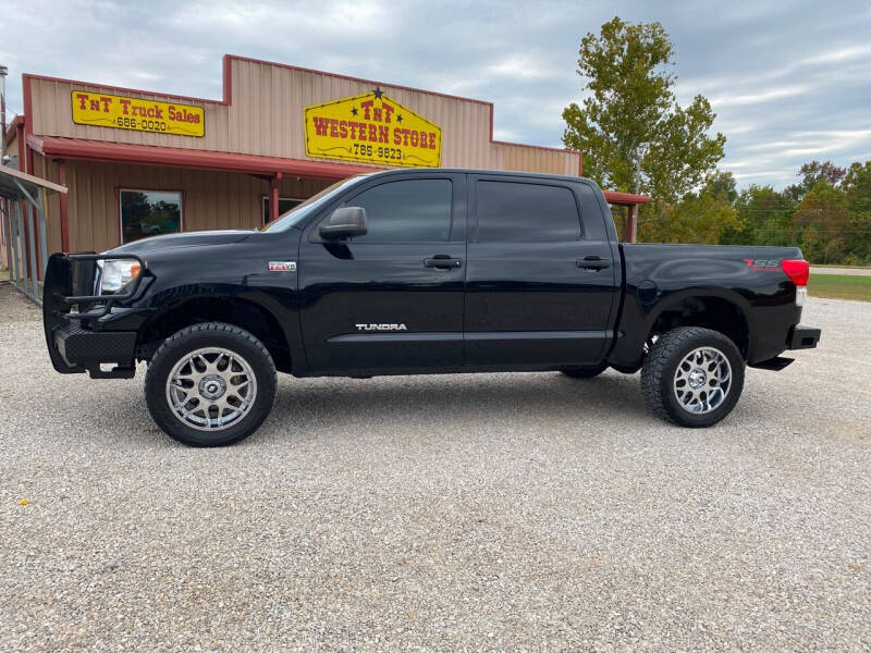
{"label": "tan corrugated metal upper facade around the yellow signs", "polygon": [[[203,138],[77,125],[71,93],[88,90],[175,101],[159,94],[32,77],[33,133],[212,151],[306,159],[303,109],[308,104],[368,93],[372,84],[279,64],[231,58],[232,102],[179,100],[203,107]],[[578,155],[516,147],[490,140],[491,104],[381,84],[391,97],[442,127],[442,165],[577,174]]]}

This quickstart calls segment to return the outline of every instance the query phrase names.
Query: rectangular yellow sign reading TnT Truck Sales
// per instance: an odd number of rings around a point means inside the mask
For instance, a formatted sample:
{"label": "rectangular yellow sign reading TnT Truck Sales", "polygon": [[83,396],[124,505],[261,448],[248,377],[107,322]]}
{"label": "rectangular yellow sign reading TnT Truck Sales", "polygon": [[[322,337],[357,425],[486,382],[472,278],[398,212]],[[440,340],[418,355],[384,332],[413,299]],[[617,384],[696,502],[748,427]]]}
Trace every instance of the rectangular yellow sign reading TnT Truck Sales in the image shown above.
{"label": "rectangular yellow sign reading TnT Truck Sales", "polygon": [[206,116],[200,107],[86,90],[74,90],[72,99],[73,122],[79,125],[179,136],[206,134]]}

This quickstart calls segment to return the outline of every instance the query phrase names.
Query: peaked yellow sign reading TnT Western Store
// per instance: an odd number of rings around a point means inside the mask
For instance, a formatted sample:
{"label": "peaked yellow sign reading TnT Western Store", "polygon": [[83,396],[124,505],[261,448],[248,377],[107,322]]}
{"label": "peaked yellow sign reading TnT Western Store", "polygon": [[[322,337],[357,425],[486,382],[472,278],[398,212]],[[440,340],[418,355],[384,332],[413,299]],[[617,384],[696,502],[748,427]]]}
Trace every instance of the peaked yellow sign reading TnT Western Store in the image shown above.
{"label": "peaked yellow sign reading TnT Western Store", "polygon": [[376,165],[438,168],[442,128],[381,89],[305,108],[306,155]]}

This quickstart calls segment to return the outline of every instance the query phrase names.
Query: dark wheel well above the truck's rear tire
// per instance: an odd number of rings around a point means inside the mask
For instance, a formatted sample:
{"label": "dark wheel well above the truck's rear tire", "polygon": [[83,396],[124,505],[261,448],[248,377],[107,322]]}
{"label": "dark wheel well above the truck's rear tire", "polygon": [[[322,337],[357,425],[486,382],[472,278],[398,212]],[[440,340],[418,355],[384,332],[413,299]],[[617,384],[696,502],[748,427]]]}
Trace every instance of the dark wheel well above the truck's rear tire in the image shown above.
{"label": "dark wheel well above the truck's rear tire", "polygon": [[687,297],[680,304],[662,311],[648,333],[648,342],[677,326],[703,326],[719,331],[735,343],[744,358],[750,345],[750,330],[744,312],[722,297]]}

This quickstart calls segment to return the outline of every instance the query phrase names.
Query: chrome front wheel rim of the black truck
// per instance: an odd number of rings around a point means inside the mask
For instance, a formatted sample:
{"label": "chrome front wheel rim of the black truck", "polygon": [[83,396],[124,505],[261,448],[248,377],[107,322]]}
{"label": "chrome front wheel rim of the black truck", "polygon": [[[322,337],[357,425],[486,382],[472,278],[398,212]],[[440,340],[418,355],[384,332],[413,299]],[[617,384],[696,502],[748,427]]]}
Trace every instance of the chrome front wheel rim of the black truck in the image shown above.
{"label": "chrome front wheel rim of the black truck", "polygon": [[257,398],[257,379],[238,354],[206,347],[175,364],[167,381],[167,402],[184,424],[218,431],[238,423]]}

